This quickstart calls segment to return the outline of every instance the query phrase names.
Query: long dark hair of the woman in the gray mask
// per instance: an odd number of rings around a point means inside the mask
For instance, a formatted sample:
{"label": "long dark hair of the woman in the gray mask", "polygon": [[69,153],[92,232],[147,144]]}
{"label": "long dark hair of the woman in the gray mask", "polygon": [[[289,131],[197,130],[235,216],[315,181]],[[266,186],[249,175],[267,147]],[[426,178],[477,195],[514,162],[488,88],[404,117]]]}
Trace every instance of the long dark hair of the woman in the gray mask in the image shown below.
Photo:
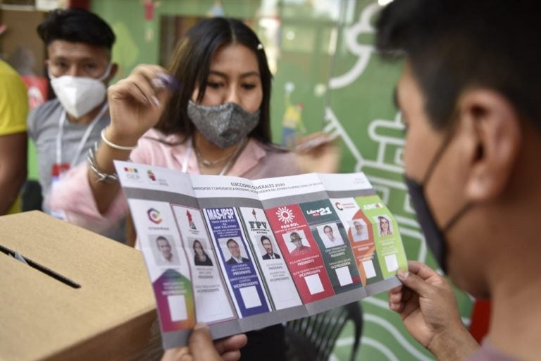
{"label": "long dark hair of the woman in the gray mask", "polygon": [[272,75],[268,68],[265,51],[257,35],[242,21],[231,18],[208,18],[199,21],[179,42],[169,71],[180,81],[180,87],[173,92],[166,109],[156,124],[163,133],[180,133],[185,139],[194,133],[194,125],[189,120],[187,106],[195,87],[199,87],[199,99],[203,99],[209,77],[211,61],[216,51],[229,44],[242,44],[253,51],[259,64],[263,99],[259,124],[251,131],[263,144],[271,142],[270,137],[270,82]]}

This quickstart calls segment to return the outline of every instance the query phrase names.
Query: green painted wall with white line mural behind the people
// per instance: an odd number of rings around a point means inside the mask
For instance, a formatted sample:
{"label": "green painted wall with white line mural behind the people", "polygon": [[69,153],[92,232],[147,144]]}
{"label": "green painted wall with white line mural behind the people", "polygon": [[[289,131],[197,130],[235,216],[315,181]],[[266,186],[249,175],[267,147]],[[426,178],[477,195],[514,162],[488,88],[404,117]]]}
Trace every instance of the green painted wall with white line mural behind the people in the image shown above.
{"label": "green painted wall with white line mural behind the people", "polygon": [[[226,16],[254,25],[275,68],[273,133],[281,140],[288,104],[304,105],[308,132],[325,129],[340,139],[343,172],[363,171],[400,226],[409,259],[435,267],[402,183],[402,126],[392,104],[401,64],[382,63],[373,51],[373,22],[378,5],[368,0],[225,1]],[[158,63],[161,16],[206,16],[211,0],[160,0],[154,20],[145,23],[142,1],[93,0],[92,10],[118,36],[113,60],[123,76],[138,63]],[[278,21],[279,20],[279,21]],[[276,26],[278,25],[278,27]],[[149,30],[154,39],[147,41]],[[287,96],[288,83],[294,90]],[[466,322],[471,302],[457,291]],[[431,360],[387,309],[387,295],[362,301],[364,334],[359,360]],[[335,348],[335,360],[347,360],[352,344],[348,325]]]}

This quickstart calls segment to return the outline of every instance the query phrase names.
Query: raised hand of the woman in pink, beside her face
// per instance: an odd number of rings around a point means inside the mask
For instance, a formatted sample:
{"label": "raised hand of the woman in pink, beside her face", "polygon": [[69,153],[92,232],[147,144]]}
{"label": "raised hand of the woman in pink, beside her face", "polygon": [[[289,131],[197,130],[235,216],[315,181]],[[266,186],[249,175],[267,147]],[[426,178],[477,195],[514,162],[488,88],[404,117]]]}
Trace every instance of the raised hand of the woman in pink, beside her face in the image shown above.
{"label": "raised hand of the woman in pink, beside her face", "polygon": [[108,88],[111,125],[106,136],[119,145],[136,145],[137,140],[158,122],[170,91],[163,81],[166,69],[140,65],[128,78]]}

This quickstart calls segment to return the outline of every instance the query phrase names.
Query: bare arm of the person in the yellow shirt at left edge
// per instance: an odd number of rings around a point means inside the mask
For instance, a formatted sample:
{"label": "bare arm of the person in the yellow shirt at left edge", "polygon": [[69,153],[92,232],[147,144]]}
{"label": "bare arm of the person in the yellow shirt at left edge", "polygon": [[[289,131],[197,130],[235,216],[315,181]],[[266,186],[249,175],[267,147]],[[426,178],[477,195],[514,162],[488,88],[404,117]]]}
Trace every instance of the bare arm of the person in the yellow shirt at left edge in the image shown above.
{"label": "bare arm of the person in the yellow shirt at left edge", "polygon": [[0,215],[15,202],[26,179],[26,133],[0,135]]}

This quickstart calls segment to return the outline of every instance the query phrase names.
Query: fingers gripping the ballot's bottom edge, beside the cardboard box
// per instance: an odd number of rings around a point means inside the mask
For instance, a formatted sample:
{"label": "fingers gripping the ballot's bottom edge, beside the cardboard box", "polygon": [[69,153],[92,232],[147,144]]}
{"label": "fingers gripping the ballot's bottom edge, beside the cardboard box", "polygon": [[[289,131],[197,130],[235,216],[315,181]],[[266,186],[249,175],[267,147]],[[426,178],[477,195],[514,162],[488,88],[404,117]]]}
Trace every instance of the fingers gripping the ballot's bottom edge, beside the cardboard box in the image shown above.
{"label": "fingers gripping the ballot's bottom edge, beside the cardboard box", "polygon": [[189,336],[188,345],[166,350],[162,361],[237,361],[240,348],[246,345],[246,335],[240,334],[212,341],[211,331],[205,324],[197,324]]}

